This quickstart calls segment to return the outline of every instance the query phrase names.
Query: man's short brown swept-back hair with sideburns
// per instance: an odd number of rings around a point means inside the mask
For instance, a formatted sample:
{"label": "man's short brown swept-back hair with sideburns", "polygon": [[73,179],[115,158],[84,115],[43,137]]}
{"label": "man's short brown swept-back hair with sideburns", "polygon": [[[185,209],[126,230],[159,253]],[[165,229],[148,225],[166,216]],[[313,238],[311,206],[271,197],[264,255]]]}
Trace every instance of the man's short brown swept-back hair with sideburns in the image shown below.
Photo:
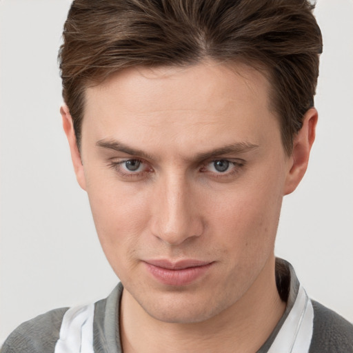
{"label": "man's short brown swept-back hair with sideburns", "polygon": [[132,65],[241,61],[265,69],[285,151],[314,104],[322,38],[307,0],[75,0],[59,51],[81,141],[85,88]]}

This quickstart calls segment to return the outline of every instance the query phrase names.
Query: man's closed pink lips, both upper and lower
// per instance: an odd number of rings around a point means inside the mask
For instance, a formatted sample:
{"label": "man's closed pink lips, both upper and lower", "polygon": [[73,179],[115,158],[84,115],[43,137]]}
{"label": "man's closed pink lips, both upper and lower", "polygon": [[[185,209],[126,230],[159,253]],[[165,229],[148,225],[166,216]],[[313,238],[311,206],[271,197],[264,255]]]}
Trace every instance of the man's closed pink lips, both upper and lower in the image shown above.
{"label": "man's closed pink lips, both upper and lower", "polygon": [[171,262],[168,260],[145,261],[145,267],[157,279],[165,285],[188,285],[206,274],[213,262],[193,259]]}

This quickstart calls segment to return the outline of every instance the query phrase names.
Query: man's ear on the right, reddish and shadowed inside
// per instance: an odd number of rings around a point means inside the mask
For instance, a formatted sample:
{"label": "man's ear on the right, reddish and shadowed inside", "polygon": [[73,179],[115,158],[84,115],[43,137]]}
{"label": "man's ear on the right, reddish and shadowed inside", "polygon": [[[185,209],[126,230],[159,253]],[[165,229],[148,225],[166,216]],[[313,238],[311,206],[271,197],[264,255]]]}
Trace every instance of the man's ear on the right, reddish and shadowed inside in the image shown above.
{"label": "man's ear on the right, reddish and shadowed inside", "polygon": [[288,174],[283,194],[293,192],[303,179],[309,161],[310,150],[315,139],[315,128],[318,119],[317,110],[310,108],[304,115],[303,126],[293,141],[292,156],[289,159]]}

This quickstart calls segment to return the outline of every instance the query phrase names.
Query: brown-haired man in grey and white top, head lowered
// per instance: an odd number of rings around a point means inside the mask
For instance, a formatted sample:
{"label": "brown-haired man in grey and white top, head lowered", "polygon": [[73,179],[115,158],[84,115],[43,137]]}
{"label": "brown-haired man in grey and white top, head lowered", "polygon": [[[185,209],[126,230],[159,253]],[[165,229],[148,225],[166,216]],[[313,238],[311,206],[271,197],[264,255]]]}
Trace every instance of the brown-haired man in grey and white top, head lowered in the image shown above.
{"label": "brown-haired man in grey and white top, head lowered", "polygon": [[307,167],[321,33],[305,1],[74,1],[60,52],[74,170],[121,284],[3,352],[353,352],[274,258]]}

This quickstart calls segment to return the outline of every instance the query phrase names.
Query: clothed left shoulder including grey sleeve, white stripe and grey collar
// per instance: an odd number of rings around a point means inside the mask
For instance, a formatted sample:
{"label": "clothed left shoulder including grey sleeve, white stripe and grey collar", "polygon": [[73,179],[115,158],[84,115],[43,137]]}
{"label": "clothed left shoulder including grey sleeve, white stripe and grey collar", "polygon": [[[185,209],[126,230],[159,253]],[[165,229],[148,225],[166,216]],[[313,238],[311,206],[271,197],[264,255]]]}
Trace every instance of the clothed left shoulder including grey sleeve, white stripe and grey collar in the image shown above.
{"label": "clothed left shoulder including grey sleeve, white stripe and grey collar", "polygon": [[119,303],[123,285],[89,305],[63,307],[26,321],[17,327],[1,353],[121,352]]}

